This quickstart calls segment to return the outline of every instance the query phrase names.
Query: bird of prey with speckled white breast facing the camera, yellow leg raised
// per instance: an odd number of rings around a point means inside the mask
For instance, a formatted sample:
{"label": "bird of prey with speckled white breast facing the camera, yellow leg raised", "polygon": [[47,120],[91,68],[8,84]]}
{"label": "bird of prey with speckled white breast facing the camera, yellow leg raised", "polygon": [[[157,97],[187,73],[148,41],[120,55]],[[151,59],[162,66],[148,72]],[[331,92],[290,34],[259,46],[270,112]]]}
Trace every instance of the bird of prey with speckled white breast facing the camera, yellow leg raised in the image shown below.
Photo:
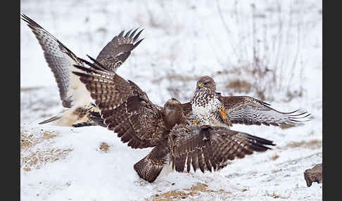
{"label": "bird of prey with speckled white breast facing the camera, yellow leg raised", "polygon": [[203,76],[198,79],[191,102],[183,104],[184,110],[194,115],[194,122],[220,127],[232,124],[265,124],[267,126],[295,125],[305,121],[308,112],[279,112],[250,96],[222,96],[216,92],[213,78]]}

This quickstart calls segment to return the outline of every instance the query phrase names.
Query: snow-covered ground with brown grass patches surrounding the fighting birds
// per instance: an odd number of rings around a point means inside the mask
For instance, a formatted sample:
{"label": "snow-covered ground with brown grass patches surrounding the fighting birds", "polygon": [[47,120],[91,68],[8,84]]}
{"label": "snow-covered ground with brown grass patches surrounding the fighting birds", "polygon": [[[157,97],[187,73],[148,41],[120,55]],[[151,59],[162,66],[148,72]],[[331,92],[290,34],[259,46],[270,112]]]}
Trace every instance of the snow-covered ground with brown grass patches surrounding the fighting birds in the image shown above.
{"label": "snow-covered ground with brown grass patches surrounding the fighting birds", "polygon": [[148,183],[133,164],[150,148],[128,148],[102,127],[37,124],[63,108],[42,49],[20,21],[21,200],[322,200],[322,183],[307,187],[303,176],[322,162],[322,1],[20,5],[83,58],[96,57],[121,30],[144,28],[144,41],[118,74],[159,105],[170,97],[189,101],[198,77],[208,74],[224,95],[265,98],[277,110],[312,114],[310,122],[288,129],[234,125],[277,146],[215,173],[175,172]]}

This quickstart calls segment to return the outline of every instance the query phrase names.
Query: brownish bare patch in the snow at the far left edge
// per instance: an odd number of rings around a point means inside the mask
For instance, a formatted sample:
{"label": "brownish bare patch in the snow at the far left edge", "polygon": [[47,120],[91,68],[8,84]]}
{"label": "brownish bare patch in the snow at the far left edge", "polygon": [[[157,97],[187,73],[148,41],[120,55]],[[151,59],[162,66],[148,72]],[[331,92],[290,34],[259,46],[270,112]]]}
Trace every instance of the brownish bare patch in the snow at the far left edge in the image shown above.
{"label": "brownish bare patch in the snow at the far left edge", "polygon": [[40,143],[51,141],[58,136],[51,131],[27,131],[20,128],[20,167],[25,171],[40,169],[44,164],[67,157],[72,148],[36,148]]}

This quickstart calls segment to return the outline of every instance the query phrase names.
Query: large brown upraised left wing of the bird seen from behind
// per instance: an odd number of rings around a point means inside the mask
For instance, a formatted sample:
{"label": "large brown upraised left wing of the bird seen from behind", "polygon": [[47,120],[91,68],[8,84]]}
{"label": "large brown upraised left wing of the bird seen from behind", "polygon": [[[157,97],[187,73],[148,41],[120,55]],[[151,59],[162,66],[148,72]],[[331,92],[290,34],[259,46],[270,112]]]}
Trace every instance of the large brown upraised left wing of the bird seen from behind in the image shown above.
{"label": "large brown upraised left wing of the bird seen from behind", "polygon": [[90,68],[75,65],[80,77],[100,109],[107,128],[118,133],[123,143],[132,148],[147,148],[165,140],[165,124],[161,111],[137,84],[126,81],[93,58],[82,60]]}

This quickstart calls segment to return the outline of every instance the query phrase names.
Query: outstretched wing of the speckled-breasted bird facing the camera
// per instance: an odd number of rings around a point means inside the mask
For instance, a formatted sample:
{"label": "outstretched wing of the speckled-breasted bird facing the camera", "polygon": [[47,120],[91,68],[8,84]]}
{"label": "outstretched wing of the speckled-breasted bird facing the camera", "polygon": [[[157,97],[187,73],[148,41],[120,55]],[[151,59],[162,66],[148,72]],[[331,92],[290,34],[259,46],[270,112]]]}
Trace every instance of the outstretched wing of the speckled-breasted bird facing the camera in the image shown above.
{"label": "outstretched wing of the speckled-breasted bird facing the camera", "polygon": [[[219,94],[220,96],[220,94]],[[270,108],[270,104],[249,96],[220,96],[227,115],[233,124],[265,124],[269,126],[295,125],[305,122],[308,112],[279,112]]]}

